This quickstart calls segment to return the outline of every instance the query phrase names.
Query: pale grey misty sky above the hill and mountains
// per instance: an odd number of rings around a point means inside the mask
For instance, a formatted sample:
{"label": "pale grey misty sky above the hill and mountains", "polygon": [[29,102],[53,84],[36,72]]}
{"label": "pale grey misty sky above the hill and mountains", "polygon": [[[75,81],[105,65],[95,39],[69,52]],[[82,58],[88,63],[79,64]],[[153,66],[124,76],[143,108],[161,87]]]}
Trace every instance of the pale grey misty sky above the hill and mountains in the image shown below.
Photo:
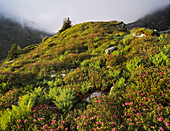
{"label": "pale grey misty sky above the hill and mountains", "polygon": [[168,4],[170,0],[0,0],[0,14],[55,32],[66,17],[72,24],[108,20],[128,23]]}

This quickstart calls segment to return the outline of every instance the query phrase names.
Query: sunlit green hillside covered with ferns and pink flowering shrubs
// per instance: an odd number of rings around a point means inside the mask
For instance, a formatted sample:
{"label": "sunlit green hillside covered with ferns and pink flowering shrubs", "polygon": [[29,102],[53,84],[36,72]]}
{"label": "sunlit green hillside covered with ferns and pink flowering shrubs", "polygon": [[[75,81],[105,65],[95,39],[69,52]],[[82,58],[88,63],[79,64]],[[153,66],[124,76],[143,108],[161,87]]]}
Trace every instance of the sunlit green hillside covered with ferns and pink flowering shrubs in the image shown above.
{"label": "sunlit green hillside covered with ferns and pink flowering shrubs", "polygon": [[2,61],[1,130],[169,130],[170,35],[122,23],[77,24]]}

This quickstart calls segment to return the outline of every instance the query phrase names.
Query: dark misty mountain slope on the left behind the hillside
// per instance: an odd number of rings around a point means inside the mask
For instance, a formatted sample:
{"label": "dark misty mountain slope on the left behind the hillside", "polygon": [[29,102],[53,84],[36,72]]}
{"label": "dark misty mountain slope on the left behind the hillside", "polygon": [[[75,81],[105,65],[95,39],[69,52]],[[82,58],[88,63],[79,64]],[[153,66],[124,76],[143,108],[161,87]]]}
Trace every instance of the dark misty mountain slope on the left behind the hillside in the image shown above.
{"label": "dark misty mountain slope on the left behind the hillside", "polygon": [[0,60],[7,57],[12,44],[24,48],[41,42],[46,35],[49,34],[0,16]]}

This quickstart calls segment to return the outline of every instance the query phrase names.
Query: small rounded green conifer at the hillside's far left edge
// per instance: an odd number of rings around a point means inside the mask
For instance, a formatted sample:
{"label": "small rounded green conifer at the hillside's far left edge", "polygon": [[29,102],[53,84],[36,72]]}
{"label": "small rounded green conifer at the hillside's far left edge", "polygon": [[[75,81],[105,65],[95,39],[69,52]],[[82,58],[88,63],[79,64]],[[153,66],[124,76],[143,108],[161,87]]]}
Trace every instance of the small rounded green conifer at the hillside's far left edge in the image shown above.
{"label": "small rounded green conifer at the hillside's far left edge", "polygon": [[8,51],[8,60],[13,60],[14,58],[17,58],[18,55],[21,53],[21,47],[16,44],[12,44],[11,50]]}

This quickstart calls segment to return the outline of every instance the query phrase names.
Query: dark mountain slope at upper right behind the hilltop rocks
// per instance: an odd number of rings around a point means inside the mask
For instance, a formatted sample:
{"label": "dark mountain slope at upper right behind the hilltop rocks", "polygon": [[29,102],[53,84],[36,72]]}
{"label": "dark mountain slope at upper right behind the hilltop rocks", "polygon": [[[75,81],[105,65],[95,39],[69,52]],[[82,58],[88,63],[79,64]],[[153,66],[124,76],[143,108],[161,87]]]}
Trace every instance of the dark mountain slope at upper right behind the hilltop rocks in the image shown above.
{"label": "dark mountain slope at upper right behind the hilltop rocks", "polygon": [[127,24],[127,28],[145,27],[164,31],[170,29],[170,5],[160,9],[152,14],[149,14],[133,23]]}

